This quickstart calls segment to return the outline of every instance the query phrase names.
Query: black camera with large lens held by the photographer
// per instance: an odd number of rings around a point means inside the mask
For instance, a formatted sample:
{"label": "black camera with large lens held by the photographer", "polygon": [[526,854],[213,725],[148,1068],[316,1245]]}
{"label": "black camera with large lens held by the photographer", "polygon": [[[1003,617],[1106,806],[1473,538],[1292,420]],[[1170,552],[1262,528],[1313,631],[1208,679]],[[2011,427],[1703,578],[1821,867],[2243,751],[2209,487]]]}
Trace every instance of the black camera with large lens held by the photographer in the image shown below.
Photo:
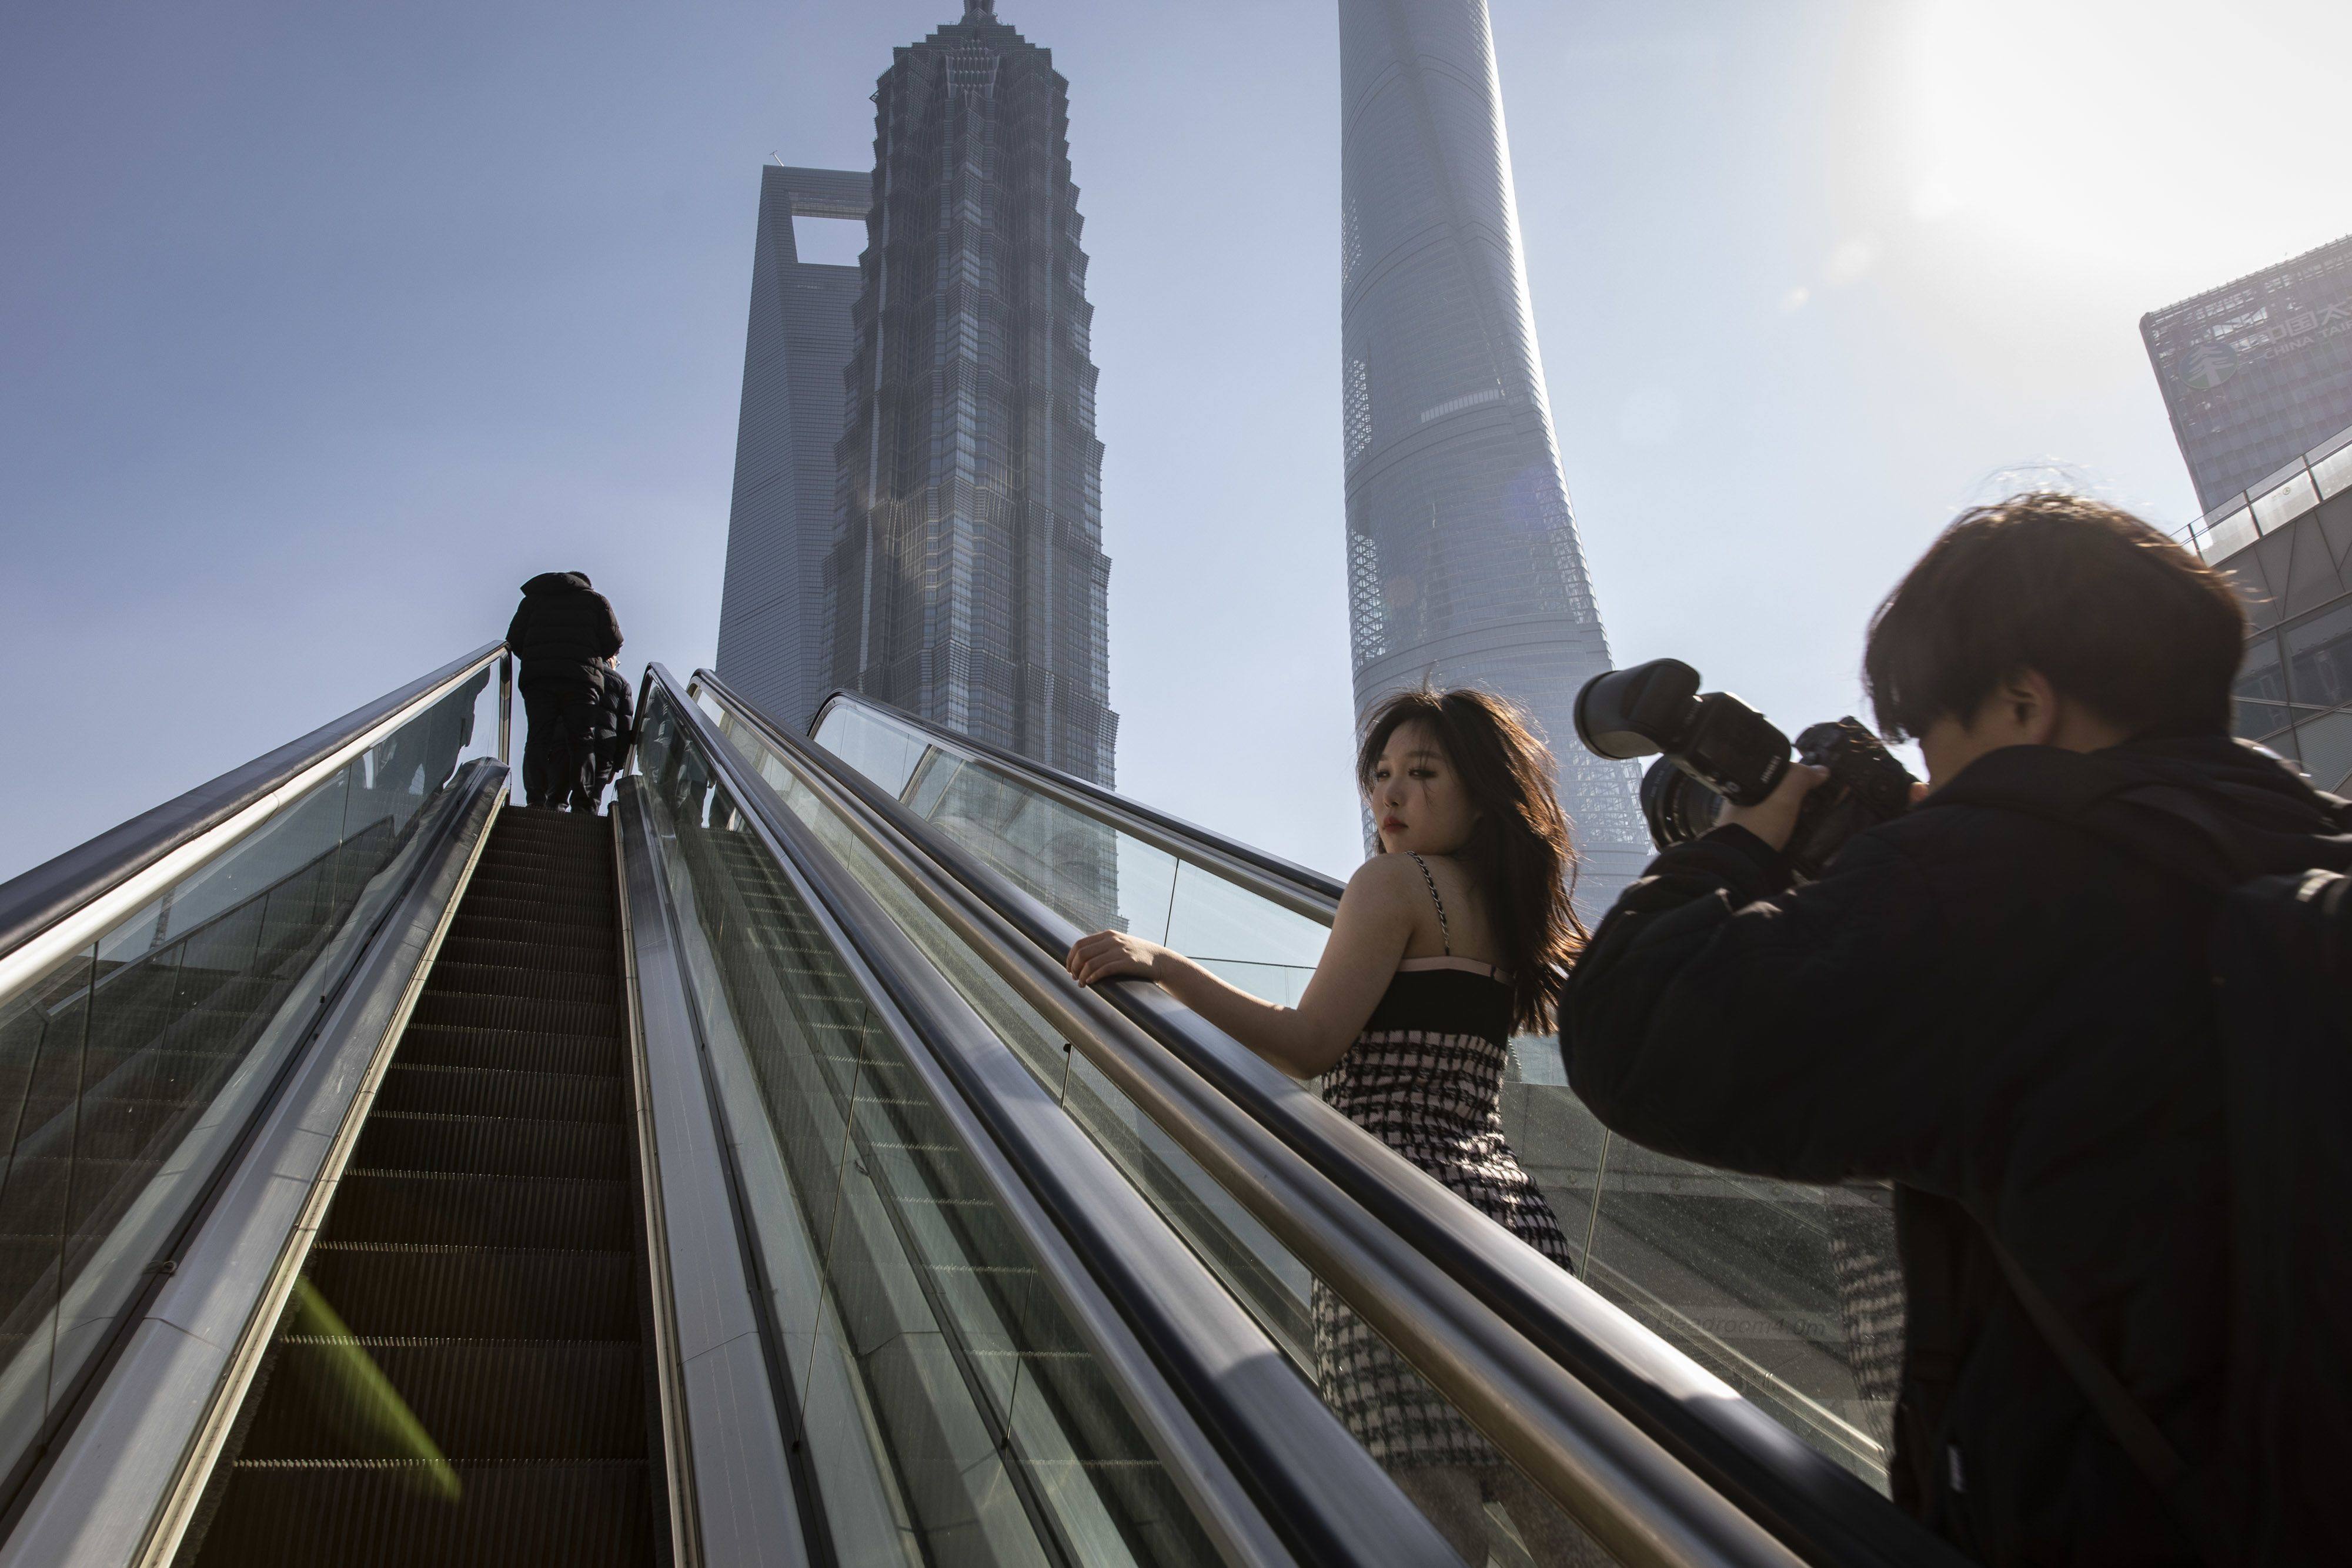
{"label": "black camera with large lens held by the photographer", "polygon": [[1792,757],[1828,769],[1830,778],[1804,797],[1785,849],[1806,882],[1856,832],[1907,811],[1917,783],[1860,719],[1813,724],[1792,745],[1729,691],[1700,691],[1698,670],[1679,658],[1588,679],[1576,693],[1576,738],[1602,757],[1663,752],[1642,776],[1642,816],[1658,849],[1710,832],[1722,802],[1759,804]]}

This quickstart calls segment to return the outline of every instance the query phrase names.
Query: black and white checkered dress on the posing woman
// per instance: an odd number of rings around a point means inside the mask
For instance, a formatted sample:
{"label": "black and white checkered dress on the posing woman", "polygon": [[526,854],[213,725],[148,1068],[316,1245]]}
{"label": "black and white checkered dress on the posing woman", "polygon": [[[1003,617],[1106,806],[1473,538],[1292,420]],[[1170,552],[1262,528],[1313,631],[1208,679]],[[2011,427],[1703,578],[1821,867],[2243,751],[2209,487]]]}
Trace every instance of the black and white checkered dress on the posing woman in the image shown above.
{"label": "black and white checkered dress on the posing woman", "polygon": [[[1456,966],[1399,969],[1364,1032],[1324,1077],[1324,1100],[1496,1225],[1571,1267],[1552,1206],[1503,1143],[1508,1041],[1510,987],[1498,978]],[[1324,1399],[1381,1465],[1479,1469],[1501,1462],[1486,1439],[1322,1281],[1315,1284],[1315,1363]]]}

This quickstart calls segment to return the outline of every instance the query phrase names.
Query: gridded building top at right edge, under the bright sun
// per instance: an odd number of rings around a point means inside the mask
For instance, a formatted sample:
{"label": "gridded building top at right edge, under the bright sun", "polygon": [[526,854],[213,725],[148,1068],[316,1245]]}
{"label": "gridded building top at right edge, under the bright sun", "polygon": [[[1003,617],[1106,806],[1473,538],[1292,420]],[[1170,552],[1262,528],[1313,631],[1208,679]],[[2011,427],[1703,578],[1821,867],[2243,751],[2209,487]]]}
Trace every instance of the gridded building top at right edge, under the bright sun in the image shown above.
{"label": "gridded building top at right edge, under the bright sun", "polygon": [[2352,235],[2140,317],[2197,505],[2352,425]]}

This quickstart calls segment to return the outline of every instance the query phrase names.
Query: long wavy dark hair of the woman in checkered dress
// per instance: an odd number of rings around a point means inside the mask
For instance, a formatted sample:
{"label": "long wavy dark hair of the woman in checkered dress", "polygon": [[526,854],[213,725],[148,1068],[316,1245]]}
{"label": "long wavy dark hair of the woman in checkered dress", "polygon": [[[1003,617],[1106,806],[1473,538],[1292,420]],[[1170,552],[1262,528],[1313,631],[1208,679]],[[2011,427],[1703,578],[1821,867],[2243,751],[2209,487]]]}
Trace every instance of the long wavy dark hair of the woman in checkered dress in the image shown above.
{"label": "long wavy dark hair of the woman in checkered dress", "polygon": [[1486,896],[1503,945],[1512,1030],[1545,1032],[1569,964],[1585,945],[1585,926],[1569,903],[1576,846],[1559,811],[1552,750],[1526,715],[1486,691],[1397,691],[1364,717],[1355,780],[1367,795],[1381,750],[1406,724],[1428,726],[1470,792],[1479,820],[1458,858]]}

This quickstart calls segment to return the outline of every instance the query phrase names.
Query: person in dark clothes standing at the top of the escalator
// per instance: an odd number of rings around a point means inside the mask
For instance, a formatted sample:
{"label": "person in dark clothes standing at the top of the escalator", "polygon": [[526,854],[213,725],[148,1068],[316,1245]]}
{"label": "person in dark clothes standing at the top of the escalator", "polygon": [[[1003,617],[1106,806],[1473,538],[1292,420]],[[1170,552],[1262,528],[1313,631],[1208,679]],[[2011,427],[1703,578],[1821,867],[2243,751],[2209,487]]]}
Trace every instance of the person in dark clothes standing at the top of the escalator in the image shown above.
{"label": "person in dark clothes standing at the top of the escalator", "polygon": [[621,651],[621,623],[586,571],[541,571],[522,585],[506,628],[522,663],[515,686],[529,724],[522,790],[532,806],[567,806],[595,769],[595,715],[604,696],[604,661]]}

